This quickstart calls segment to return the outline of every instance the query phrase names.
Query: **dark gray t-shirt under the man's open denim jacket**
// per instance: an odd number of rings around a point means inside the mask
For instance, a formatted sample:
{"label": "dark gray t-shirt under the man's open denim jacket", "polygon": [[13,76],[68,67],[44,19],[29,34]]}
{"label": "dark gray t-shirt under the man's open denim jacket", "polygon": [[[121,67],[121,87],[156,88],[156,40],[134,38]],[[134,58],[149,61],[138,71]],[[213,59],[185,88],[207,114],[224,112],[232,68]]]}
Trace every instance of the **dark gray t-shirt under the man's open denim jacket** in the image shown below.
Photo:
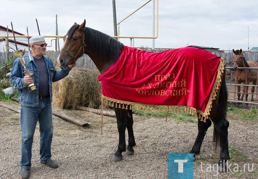
{"label": "dark gray t-shirt under the man's open denim jacket", "polygon": [[39,70],[38,77],[38,96],[48,96],[49,95],[49,72],[47,70],[46,63],[43,59],[37,59],[35,57],[34,62],[36,63]]}

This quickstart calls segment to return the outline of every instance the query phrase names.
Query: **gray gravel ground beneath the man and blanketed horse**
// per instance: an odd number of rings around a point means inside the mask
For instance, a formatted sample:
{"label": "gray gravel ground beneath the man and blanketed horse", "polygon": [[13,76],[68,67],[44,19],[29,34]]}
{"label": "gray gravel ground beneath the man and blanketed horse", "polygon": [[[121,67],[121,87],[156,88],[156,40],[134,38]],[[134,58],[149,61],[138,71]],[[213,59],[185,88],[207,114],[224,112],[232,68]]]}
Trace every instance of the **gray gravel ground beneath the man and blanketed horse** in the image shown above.
{"label": "gray gravel ground beneath the man and blanketed horse", "polygon": [[[18,102],[2,103],[20,109]],[[167,178],[167,153],[190,152],[197,135],[197,123],[179,122],[173,118],[166,122],[165,118],[134,115],[135,153],[123,155],[123,160],[113,162],[111,157],[118,145],[115,118],[104,116],[103,134],[100,135],[99,115],[78,110],[60,112],[91,125],[83,128],[53,116],[52,159],[59,164],[56,169],[39,162],[37,126],[30,178]],[[212,172],[209,164],[213,165],[219,159],[219,152],[213,151],[212,125],[194,162],[194,178],[258,178],[257,120],[228,120],[230,152],[241,153],[236,157],[244,156],[245,162],[237,163],[238,172],[236,168],[233,171],[236,164],[232,160],[229,160],[232,172]],[[0,125],[0,178],[20,178],[20,114],[0,106]],[[232,158],[233,154],[230,155]],[[252,172],[243,172],[245,163],[250,164],[250,170],[254,164]]]}

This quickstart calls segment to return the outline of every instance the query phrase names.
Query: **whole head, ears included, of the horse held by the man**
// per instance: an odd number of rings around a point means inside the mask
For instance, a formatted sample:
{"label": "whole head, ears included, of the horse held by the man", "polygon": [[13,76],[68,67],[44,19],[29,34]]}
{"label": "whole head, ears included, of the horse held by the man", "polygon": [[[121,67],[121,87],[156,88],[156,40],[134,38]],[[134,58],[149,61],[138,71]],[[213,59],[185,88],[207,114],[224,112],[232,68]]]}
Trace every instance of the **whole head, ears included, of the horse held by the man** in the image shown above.
{"label": "whole head, ears included, of the horse held by the man", "polygon": [[62,69],[67,68],[69,64],[74,63],[85,51],[85,30],[86,21],[81,25],[74,25],[68,30],[67,34],[63,37],[64,46],[57,58],[58,66]]}

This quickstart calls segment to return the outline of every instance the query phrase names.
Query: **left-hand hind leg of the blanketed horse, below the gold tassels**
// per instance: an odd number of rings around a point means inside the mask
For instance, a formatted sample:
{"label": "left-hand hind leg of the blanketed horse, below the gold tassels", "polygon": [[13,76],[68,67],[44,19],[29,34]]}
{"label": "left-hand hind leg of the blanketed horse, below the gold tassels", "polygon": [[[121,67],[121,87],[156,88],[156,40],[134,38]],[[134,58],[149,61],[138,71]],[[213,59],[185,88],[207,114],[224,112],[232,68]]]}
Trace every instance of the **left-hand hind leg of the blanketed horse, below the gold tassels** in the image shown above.
{"label": "left-hand hind leg of the blanketed horse, below the gold tassels", "polygon": [[[199,114],[198,114],[199,115]],[[195,158],[196,154],[200,153],[201,144],[203,143],[204,136],[207,132],[207,129],[211,126],[211,120],[206,119],[206,123],[198,119],[198,134],[193,144],[192,150],[190,153],[193,153]]]}

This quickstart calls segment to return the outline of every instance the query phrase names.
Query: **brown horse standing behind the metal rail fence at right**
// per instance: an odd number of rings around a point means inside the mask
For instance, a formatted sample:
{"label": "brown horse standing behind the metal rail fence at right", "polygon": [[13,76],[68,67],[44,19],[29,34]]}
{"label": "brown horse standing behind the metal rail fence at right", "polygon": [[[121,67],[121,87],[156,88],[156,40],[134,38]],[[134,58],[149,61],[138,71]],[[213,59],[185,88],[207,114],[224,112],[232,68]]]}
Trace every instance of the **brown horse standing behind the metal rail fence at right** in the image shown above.
{"label": "brown horse standing behind the metal rail fence at right", "polygon": [[[236,84],[246,84],[249,85],[250,82],[253,82],[253,85],[257,84],[257,76],[258,76],[258,69],[248,69],[258,68],[258,63],[256,61],[246,61],[245,57],[242,54],[242,49],[234,50],[233,49],[233,70],[235,70],[235,82]],[[246,69],[239,69],[238,67],[244,67]],[[252,93],[254,93],[254,86],[252,86]],[[240,86],[237,86],[237,99],[243,101],[244,94],[245,94],[245,101],[247,101],[248,97],[248,86],[243,86],[243,94],[240,99]],[[251,101],[254,101],[254,94],[252,94]],[[237,103],[237,107],[239,107],[240,102]],[[248,103],[246,103],[246,107],[248,108]]]}

